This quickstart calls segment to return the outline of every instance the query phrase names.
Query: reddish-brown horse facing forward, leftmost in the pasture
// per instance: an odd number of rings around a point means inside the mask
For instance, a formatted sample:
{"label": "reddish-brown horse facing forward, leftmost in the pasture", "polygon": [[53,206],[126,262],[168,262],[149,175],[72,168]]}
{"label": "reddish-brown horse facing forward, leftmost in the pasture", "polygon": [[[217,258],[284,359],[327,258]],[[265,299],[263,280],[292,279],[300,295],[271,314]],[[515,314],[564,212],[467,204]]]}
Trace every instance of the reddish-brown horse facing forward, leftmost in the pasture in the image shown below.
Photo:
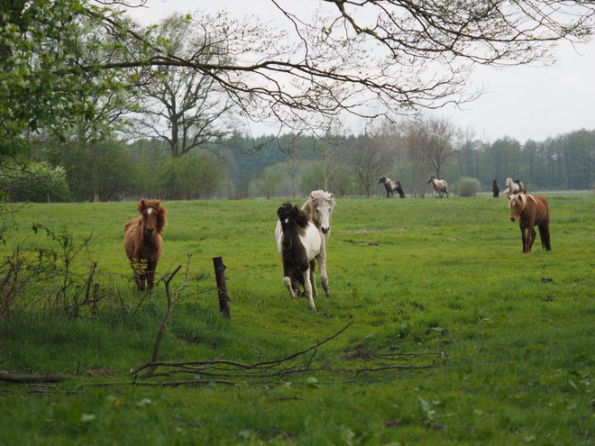
{"label": "reddish-brown horse facing forward, leftmost in the pasture", "polygon": [[151,291],[155,281],[155,270],[161,256],[163,239],[161,232],[167,224],[167,210],[160,200],[145,200],[136,205],[140,217],[124,225],[124,252],[134,272],[134,281],[139,290],[146,286]]}

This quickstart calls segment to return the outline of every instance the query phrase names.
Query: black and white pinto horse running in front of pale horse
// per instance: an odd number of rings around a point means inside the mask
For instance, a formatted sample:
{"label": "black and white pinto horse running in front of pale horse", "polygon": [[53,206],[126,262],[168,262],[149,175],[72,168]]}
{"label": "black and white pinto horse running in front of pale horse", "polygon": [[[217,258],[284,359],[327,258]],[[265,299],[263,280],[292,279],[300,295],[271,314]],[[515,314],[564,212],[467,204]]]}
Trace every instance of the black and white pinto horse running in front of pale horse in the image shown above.
{"label": "black and white pinto horse running in front of pale horse", "polygon": [[293,288],[299,282],[306,289],[310,308],[316,310],[313,298],[315,274],[314,259],[320,253],[321,236],[316,225],[308,214],[290,203],[283,203],[277,210],[279,220],[275,229],[275,238],[279,255],[283,262],[283,283],[288,288],[289,296],[298,294]]}

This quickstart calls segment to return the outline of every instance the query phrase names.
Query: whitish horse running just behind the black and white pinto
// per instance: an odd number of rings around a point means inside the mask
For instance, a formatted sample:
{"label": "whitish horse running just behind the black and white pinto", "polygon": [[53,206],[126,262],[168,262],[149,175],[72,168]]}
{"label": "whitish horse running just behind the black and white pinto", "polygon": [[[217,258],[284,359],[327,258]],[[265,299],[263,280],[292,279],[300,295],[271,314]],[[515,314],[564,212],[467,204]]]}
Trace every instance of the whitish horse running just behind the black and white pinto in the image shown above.
{"label": "whitish horse running just behind the black and white pinto", "polygon": [[[302,206],[302,211],[310,215],[314,221],[318,232],[320,232],[320,253],[316,257],[318,260],[318,269],[320,270],[320,282],[325,290],[325,295],[331,298],[331,291],[328,288],[328,276],[326,275],[326,241],[331,235],[331,216],[334,209],[334,195],[330,192],[325,192],[322,189],[312,191],[307,202]],[[314,284],[314,275],[312,278],[312,288],[316,293],[316,285]]]}

